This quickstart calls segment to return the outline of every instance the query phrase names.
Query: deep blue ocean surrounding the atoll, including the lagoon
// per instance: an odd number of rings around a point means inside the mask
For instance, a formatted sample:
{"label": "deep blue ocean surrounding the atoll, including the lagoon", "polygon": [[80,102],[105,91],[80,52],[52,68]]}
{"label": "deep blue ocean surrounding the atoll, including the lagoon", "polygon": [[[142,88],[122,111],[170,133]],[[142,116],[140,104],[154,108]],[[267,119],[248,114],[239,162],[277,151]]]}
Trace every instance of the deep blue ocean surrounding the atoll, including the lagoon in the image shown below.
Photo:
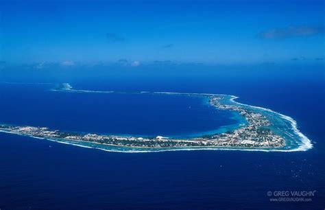
{"label": "deep blue ocean surrounding the atoll, including the lagoon", "polygon": [[[181,135],[234,124],[200,98],[53,93],[53,84],[101,91],[223,93],[296,119],[306,152],[105,152],[0,132],[0,209],[324,209],[323,66],[96,73],[0,73],[0,122],[62,130]],[[178,71],[176,71],[178,70]],[[91,71],[93,72],[93,71]],[[51,84],[21,84],[49,82]],[[315,191],[272,202],[268,191]]]}

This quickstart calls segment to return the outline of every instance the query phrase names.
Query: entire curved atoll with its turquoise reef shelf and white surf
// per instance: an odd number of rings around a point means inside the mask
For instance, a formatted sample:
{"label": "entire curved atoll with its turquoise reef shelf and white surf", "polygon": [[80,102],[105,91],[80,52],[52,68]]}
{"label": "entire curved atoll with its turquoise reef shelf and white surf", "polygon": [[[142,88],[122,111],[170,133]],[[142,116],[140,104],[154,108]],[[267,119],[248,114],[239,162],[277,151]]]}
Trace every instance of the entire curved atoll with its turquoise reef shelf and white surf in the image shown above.
{"label": "entire curved atoll with its turquoise reef shelf and white surf", "polygon": [[[113,91],[86,91],[74,90],[70,84],[61,84],[52,91],[67,91],[77,93],[113,93]],[[66,143],[83,145],[107,145],[112,148],[124,148],[123,151],[155,150],[182,150],[206,148],[237,148],[237,149],[263,149],[263,150],[306,150],[311,148],[309,139],[304,137],[296,128],[296,121],[272,110],[249,106],[234,102],[232,95],[217,95],[209,93],[167,93],[147,92],[139,94],[173,94],[173,95],[200,95],[208,97],[208,103],[217,109],[231,110],[239,113],[245,124],[239,128],[213,135],[193,137],[187,139],[167,137],[132,137],[123,135],[84,134],[81,132],[63,132],[45,127],[14,126],[0,124],[0,131],[17,135],[25,135],[41,139],[49,139]],[[126,148],[126,149],[125,149]]]}

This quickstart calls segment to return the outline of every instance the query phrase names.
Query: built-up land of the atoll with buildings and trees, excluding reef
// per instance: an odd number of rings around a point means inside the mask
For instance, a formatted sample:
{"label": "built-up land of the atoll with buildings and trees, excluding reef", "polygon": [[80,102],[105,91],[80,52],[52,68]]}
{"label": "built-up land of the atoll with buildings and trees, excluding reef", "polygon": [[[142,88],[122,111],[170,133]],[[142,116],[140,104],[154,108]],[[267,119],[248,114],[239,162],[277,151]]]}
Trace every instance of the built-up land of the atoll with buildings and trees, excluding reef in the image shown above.
{"label": "built-up land of the atoll with buildings and trees, excluding reef", "polygon": [[69,141],[84,141],[106,145],[137,147],[137,148],[191,148],[191,147],[224,147],[224,148],[281,148],[285,146],[285,139],[274,134],[265,126],[271,122],[261,113],[244,108],[222,104],[222,96],[210,96],[209,103],[216,108],[232,110],[240,113],[247,125],[217,135],[196,137],[193,139],[169,139],[165,137],[124,137],[115,135],[97,135],[78,132],[62,132],[45,127],[0,125],[0,130],[19,135],[38,137],[43,139],[62,139]]}

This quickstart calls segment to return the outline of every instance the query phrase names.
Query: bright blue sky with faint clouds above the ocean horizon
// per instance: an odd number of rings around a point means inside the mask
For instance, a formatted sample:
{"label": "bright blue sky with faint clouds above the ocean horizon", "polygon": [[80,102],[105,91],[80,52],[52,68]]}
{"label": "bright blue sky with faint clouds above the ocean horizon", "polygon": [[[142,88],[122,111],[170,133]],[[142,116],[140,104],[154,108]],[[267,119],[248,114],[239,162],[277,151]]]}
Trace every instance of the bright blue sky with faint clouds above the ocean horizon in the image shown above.
{"label": "bright blue sky with faint clouds above the ocean horizon", "polygon": [[0,62],[324,62],[324,1],[0,1]]}

